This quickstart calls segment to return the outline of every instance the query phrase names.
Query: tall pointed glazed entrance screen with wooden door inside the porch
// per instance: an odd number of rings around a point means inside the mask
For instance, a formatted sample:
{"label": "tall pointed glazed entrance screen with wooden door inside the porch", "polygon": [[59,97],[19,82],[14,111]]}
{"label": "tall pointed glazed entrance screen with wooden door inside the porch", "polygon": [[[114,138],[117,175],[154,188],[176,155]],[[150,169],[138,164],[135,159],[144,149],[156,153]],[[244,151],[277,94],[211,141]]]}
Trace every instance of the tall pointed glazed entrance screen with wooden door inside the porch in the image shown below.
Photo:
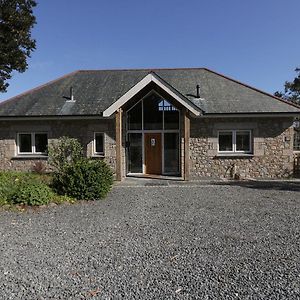
{"label": "tall pointed glazed entrance screen with wooden door inside the porch", "polygon": [[127,174],[180,175],[180,110],[152,90],[126,117]]}

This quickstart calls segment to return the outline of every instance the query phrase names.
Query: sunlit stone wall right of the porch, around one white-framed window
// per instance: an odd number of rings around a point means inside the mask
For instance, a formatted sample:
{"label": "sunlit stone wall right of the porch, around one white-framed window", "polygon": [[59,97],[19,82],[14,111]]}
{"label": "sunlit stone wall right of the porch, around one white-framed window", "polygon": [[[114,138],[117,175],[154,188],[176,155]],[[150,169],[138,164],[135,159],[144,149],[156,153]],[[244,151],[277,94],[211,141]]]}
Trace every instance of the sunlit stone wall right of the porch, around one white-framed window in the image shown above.
{"label": "sunlit stone wall right of the porch, around one white-framed window", "polygon": [[[286,178],[293,174],[291,118],[191,119],[190,176]],[[253,155],[220,156],[218,130],[250,129]]]}

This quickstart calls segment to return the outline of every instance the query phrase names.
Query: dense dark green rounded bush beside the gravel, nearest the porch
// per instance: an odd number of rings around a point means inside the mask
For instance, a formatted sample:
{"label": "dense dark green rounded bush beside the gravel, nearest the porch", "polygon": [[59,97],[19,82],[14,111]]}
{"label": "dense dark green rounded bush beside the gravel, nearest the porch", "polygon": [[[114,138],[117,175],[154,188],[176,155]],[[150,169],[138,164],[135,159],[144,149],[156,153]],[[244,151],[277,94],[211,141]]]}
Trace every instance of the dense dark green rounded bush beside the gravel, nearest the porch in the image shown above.
{"label": "dense dark green rounded bush beside the gravel, nearest the porch", "polygon": [[55,173],[53,186],[60,194],[75,199],[98,200],[104,198],[113,184],[112,171],[104,161],[81,159]]}

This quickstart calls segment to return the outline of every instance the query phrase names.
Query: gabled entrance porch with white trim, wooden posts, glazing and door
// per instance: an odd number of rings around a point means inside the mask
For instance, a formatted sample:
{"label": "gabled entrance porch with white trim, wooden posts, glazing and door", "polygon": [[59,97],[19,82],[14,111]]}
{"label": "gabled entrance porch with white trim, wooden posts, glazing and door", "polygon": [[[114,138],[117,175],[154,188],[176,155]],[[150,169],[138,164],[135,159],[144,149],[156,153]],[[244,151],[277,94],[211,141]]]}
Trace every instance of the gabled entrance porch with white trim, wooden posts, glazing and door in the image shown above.
{"label": "gabled entrance porch with white trim, wooden posts, glazing and door", "polygon": [[[148,172],[189,178],[189,115],[200,116],[199,107],[150,72],[109,106],[103,116],[114,113],[117,180],[126,174],[147,175]],[[150,133],[157,134],[156,138],[152,136],[152,143],[158,141],[161,149],[160,152],[152,149],[155,154],[149,152],[150,146],[145,147],[147,141],[151,143]]]}

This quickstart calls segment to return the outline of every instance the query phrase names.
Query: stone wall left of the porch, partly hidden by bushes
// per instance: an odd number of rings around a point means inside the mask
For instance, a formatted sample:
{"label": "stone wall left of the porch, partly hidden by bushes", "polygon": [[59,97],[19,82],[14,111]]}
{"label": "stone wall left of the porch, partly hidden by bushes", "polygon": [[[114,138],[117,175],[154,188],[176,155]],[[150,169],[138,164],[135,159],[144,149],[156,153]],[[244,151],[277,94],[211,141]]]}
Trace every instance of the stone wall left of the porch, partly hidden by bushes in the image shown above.
{"label": "stone wall left of the porch, partly hidden by bushes", "polygon": [[[0,169],[29,171],[45,156],[18,156],[16,139],[19,132],[47,132],[48,143],[61,136],[80,140],[85,154],[93,159],[104,159],[112,170],[116,169],[114,120],[60,120],[60,121],[2,121],[0,122]],[[94,132],[104,133],[104,156],[93,156]]]}

